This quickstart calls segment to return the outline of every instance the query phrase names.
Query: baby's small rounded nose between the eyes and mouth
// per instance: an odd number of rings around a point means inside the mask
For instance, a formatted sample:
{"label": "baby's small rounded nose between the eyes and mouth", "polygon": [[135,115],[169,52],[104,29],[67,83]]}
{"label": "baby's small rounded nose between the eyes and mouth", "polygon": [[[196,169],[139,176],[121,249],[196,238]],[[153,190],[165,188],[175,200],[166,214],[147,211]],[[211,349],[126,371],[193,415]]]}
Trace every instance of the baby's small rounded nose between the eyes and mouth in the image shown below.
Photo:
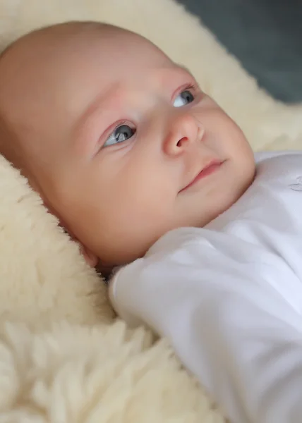
{"label": "baby's small rounded nose between the eyes and mouth", "polygon": [[202,137],[203,128],[194,116],[191,114],[177,116],[164,140],[164,151],[169,155],[180,154]]}

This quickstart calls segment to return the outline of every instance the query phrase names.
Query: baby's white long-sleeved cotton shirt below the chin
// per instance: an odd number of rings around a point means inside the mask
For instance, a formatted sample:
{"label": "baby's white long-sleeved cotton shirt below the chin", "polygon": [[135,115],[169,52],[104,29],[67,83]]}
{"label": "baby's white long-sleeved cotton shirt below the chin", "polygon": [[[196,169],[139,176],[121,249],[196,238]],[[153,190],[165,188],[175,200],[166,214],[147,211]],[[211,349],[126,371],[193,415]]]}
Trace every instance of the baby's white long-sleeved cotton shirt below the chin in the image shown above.
{"label": "baby's white long-sleeved cotton shirt below the chin", "polygon": [[234,423],[302,422],[302,152],[205,228],[164,235],[110,284],[119,315],[169,338]]}

